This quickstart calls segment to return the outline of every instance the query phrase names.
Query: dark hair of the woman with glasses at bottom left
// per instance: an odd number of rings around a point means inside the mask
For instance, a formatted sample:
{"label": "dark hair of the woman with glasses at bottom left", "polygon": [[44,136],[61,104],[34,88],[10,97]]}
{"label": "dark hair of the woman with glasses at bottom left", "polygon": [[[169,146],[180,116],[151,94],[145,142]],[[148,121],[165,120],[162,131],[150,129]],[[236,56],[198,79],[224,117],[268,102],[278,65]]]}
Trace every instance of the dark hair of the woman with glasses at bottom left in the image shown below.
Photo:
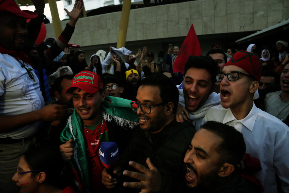
{"label": "dark hair of the woman with glasses at bottom left", "polygon": [[[46,178],[43,183],[57,184],[56,179],[58,179],[64,168],[64,162],[57,148],[46,145],[33,146],[24,153],[24,159],[30,170],[41,169],[42,172],[45,172]],[[39,172],[32,172],[32,176],[35,176]]]}

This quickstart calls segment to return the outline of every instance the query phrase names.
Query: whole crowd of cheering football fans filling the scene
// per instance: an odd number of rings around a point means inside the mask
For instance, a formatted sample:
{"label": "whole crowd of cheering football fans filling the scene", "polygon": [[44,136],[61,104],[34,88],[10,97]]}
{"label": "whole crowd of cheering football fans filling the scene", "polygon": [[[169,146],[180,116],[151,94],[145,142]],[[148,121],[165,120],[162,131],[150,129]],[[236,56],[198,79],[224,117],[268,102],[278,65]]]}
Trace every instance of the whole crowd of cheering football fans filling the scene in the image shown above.
{"label": "whole crowd of cheering football fans filling the scene", "polygon": [[0,0],[0,192],[289,193],[286,41],[272,56],[214,44],[184,74],[171,44],[168,71],[147,47],[86,61],[67,47],[81,2],[40,45],[33,3]]}

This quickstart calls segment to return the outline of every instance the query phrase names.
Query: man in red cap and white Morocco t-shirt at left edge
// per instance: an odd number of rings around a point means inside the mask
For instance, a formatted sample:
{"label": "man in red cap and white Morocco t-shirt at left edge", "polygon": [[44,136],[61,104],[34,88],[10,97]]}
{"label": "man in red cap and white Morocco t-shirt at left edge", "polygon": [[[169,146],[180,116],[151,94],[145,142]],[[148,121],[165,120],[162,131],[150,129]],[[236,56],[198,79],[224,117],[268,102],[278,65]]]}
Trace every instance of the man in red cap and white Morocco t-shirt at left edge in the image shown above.
{"label": "man in red cap and white Morocco t-shirt at left edge", "polygon": [[45,6],[44,0],[33,2],[36,12],[21,11],[13,0],[0,0],[0,192],[19,192],[11,179],[42,121],[61,119],[69,111],[64,105],[44,106],[39,80],[23,51],[26,19],[43,14]]}

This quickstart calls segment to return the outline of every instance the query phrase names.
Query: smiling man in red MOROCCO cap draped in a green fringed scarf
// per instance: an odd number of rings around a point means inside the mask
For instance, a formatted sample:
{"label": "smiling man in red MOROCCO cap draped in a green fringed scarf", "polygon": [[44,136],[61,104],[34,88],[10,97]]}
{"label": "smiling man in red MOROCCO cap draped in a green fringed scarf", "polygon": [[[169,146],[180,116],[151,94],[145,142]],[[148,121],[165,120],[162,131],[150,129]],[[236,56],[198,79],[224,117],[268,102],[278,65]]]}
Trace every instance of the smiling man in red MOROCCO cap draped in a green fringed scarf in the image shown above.
{"label": "smiling man in red MOROCCO cap draped in a green fringed scarf", "polygon": [[[107,96],[108,99],[105,100],[103,82],[98,74],[91,71],[76,74],[72,86],[66,92],[73,93],[75,109],[60,137],[61,141],[65,142],[60,146],[63,160],[72,161],[73,171],[81,179],[79,181],[82,186],[81,192],[85,188],[91,192],[102,192],[104,186],[101,184],[101,172],[104,166],[98,153],[100,144],[108,141],[116,142],[122,152],[129,141],[131,128],[137,123],[129,121],[129,117],[121,118],[116,115],[117,111],[128,116],[131,112],[136,120],[137,115],[130,107],[130,100],[111,96]],[[114,108],[109,112],[104,103],[109,105],[116,103],[117,106],[127,104],[128,108],[121,110]]]}

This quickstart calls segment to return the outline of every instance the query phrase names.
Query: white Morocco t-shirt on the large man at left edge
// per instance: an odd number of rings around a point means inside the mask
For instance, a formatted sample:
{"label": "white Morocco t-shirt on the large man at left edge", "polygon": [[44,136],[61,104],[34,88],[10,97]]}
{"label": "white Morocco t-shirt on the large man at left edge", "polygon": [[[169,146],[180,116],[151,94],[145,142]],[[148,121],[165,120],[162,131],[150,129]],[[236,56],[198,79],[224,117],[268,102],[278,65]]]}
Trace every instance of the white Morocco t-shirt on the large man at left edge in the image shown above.
{"label": "white Morocco t-shirt on the large man at left edge", "polygon": [[[21,67],[22,63],[11,55],[0,54],[0,115],[19,115],[44,106],[39,81],[33,68],[24,63],[33,74],[34,81],[26,69]],[[0,138],[20,139],[33,136],[41,124],[35,122],[9,133],[0,133]]]}

